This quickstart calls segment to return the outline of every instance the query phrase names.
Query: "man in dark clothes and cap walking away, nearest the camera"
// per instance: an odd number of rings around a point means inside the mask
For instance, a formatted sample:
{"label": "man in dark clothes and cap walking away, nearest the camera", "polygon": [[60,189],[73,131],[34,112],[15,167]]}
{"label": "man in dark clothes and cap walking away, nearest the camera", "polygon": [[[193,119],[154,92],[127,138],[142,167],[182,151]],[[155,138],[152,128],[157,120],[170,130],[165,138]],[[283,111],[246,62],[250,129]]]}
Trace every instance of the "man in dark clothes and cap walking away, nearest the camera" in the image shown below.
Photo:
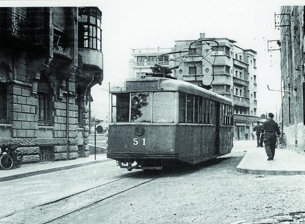
{"label": "man in dark clothes and cap walking away, nearest the camera", "polygon": [[264,133],[263,141],[268,156],[267,160],[273,160],[275,154],[276,134],[280,134],[278,123],[272,119],[273,117],[273,113],[268,113],[268,119],[261,126],[261,135]]}

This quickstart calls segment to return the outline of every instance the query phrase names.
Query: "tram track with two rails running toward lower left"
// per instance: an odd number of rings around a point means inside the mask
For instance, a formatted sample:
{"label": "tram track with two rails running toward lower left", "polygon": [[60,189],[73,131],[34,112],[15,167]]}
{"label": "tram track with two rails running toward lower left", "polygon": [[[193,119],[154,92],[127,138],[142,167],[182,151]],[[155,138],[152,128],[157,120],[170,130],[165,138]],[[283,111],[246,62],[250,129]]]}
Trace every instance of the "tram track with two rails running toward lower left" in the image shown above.
{"label": "tram track with two rails running toward lower left", "polygon": [[[158,175],[157,177],[152,177],[149,179],[145,177],[144,180],[141,177],[128,179],[131,177],[140,176],[141,174],[143,175],[144,172],[137,172],[135,174],[130,174],[126,177],[115,179],[107,183],[103,183],[98,186],[91,187],[89,189],[62,197],[52,202],[46,202],[43,204],[14,211],[10,214],[1,216],[0,223],[2,222],[15,223],[16,221],[17,223],[42,223],[42,224],[54,223],[56,221],[64,219],[65,217],[73,213],[77,213],[79,211],[85,210],[91,206],[94,206],[95,204],[108,200],[112,197],[115,197],[119,194],[122,194],[126,191],[129,191],[133,188],[136,188],[138,186],[141,186],[143,184],[146,184],[152,180],[161,177],[160,175]],[[127,187],[120,189],[120,186],[125,186],[124,184],[126,184]],[[72,209],[71,206],[73,206]],[[37,216],[37,214],[39,214],[39,216]],[[49,217],[50,214],[52,217]],[[58,214],[58,216],[54,218],[55,216],[54,214],[56,215]],[[33,218],[34,219],[36,218],[37,220],[33,221]],[[30,220],[31,222],[29,222]]]}

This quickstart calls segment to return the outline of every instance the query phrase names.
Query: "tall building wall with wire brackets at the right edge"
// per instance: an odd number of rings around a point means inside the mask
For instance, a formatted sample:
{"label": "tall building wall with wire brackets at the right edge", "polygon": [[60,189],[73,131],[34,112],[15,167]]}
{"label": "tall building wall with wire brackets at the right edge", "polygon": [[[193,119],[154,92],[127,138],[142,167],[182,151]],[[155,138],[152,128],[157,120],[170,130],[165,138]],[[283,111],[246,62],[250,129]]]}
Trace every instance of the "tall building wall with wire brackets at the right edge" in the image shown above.
{"label": "tall building wall with wire brackets at the right edge", "polygon": [[[305,150],[305,6],[282,6],[281,70],[283,133],[286,146]],[[282,131],[282,130],[281,130]]]}

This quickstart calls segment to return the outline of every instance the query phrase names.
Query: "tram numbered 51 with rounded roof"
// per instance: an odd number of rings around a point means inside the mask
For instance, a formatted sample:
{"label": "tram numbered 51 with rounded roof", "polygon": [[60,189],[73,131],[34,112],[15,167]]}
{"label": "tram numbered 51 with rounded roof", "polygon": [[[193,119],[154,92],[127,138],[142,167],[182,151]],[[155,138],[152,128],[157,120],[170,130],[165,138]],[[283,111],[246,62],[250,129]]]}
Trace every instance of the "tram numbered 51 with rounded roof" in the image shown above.
{"label": "tram numbered 51 with rounded roof", "polygon": [[124,88],[111,88],[109,98],[107,157],[121,168],[196,164],[232,150],[229,98],[164,77],[127,79]]}

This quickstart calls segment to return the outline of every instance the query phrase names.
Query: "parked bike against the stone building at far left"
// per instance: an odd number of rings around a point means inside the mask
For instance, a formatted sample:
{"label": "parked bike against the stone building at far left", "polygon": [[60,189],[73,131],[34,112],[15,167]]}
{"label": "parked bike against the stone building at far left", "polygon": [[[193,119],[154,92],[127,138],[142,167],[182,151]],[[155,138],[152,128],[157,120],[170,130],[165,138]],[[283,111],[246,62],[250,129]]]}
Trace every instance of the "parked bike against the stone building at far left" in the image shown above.
{"label": "parked bike against the stone building at far left", "polygon": [[0,167],[3,170],[9,170],[14,165],[20,168],[23,154],[17,147],[1,147],[0,148]]}

